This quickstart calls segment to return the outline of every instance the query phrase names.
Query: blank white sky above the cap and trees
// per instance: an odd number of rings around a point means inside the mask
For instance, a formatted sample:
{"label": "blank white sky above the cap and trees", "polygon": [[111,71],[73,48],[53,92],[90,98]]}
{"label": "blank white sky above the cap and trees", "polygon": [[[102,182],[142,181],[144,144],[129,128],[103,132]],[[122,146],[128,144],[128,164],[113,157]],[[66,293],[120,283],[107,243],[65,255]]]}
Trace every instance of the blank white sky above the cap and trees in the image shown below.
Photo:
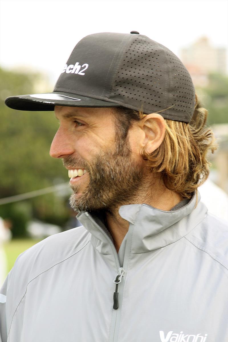
{"label": "blank white sky above the cap and trees", "polygon": [[1,0],[1,66],[32,67],[53,82],[77,42],[97,32],[155,40],[180,57],[201,36],[227,47],[226,0]]}

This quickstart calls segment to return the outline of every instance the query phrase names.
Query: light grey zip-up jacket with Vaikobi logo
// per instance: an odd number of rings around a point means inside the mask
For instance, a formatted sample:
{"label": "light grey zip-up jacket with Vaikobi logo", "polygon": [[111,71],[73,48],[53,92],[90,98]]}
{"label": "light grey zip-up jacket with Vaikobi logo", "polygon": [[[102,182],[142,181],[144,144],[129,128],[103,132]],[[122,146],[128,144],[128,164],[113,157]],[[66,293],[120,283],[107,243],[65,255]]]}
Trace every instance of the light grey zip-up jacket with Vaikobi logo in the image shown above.
{"label": "light grey zip-up jacket with Vaikobi logo", "polygon": [[227,341],[227,229],[195,204],[120,207],[119,253],[82,212],[83,226],[19,255],[1,290],[3,342]]}

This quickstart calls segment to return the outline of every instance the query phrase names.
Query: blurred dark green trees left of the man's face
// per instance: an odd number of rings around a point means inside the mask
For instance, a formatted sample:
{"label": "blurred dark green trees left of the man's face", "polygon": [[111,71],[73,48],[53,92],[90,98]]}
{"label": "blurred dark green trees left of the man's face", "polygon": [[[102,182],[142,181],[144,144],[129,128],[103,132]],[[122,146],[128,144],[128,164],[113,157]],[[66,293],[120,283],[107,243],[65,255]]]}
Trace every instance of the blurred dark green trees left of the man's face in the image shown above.
{"label": "blurred dark green trees left of the man's face", "polygon": [[[8,108],[4,100],[8,96],[31,94],[36,83],[42,80],[39,74],[23,74],[1,69],[0,99],[0,195],[1,198],[49,187],[69,180],[62,161],[49,156],[52,139],[58,129],[53,111],[20,111]],[[48,194],[22,201],[31,207],[30,215],[19,203],[2,205],[0,215],[20,225],[35,216],[53,224],[64,224],[68,219],[65,198]],[[20,217],[20,218],[19,218]],[[22,218],[23,217],[23,218]],[[23,221],[24,220],[24,221]],[[18,234],[23,228],[17,221]],[[24,223],[23,223],[24,222]]]}

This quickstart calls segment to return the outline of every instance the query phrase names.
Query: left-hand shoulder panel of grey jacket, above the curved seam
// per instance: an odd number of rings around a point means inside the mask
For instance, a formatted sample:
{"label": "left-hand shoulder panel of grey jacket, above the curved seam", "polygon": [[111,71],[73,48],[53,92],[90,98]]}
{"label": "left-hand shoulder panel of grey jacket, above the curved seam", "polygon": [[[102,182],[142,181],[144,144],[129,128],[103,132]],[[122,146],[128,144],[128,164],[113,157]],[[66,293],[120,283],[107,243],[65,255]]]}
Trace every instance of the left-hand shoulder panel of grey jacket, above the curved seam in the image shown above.
{"label": "left-hand shoulder panel of grey jacket, above the curved seam", "polygon": [[27,285],[37,276],[80,252],[91,234],[83,227],[54,234],[20,254],[9,274],[7,292],[19,303]]}

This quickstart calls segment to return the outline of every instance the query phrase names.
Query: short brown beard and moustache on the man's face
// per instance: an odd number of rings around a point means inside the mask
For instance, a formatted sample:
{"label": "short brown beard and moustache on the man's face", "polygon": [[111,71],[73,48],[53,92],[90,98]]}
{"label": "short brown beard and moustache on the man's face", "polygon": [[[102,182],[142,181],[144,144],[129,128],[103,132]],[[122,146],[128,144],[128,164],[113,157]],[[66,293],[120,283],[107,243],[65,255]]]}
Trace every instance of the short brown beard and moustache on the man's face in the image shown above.
{"label": "short brown beard and moustache on the man's face", "polygon": [[75,212],[105,211],[113,213],[120,205],[130,204],[143,190],[143,166],[133,161],[129,142],[117,142],[115,150],[100,151],[90,165],[82,159],[64,158],[65,167],[81,165],[89,175],[89,184],[80,196],[78,185],[71,185],[70,206]]}

